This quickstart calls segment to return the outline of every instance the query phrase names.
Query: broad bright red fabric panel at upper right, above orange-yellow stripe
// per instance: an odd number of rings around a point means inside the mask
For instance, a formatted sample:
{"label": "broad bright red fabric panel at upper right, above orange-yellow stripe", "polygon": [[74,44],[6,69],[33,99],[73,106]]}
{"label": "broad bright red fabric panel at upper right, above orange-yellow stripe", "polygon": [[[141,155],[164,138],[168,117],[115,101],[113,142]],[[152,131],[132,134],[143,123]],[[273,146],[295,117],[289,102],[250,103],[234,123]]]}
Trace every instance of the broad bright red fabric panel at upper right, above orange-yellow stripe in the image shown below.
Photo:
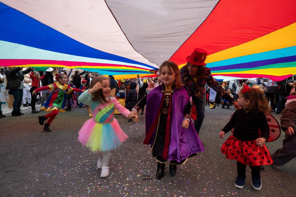
{"label": "broad bright red fabric panel at upper right, above orange-yellow stripe", "polygon": [[194,48],[210,55],[291,25],[296,21],[295,7],[295,0],[219,1],[170,61],[184,64]]}

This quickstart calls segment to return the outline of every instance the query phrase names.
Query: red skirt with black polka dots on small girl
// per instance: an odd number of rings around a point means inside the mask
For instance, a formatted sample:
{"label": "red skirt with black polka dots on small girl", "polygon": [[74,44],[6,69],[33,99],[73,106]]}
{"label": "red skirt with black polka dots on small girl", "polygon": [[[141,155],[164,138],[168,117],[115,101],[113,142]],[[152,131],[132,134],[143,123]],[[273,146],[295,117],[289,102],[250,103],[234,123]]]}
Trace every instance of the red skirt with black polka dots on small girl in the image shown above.
{"label": "red skirt with black polka dots on small girl", "polygon": [[234,159],[246,165],[259,166],[273,163],[265,144],[259,147],[256,145],[256,140],[241,141],[233,135],[223,143],[221,152],[227,159]]}

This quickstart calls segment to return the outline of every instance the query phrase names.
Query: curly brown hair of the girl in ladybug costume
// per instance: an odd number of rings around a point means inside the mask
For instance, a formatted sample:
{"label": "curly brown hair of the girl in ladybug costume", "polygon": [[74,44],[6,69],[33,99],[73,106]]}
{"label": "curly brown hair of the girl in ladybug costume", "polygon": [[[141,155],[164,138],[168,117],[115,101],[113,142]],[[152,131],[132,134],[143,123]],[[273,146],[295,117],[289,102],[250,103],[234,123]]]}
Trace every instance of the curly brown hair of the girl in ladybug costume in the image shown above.
{"label": "curly brown hair of the girl in ladybug costume", "polygon": [[244,99],[250,100],[250,105],[245,106],[244,110],[249,112],[262,112],[268,115],[271,111],[266,98],[263,96],[262,92],[257,88],[250,88],[248,92],[239,91],[239,94],[244,97]]}

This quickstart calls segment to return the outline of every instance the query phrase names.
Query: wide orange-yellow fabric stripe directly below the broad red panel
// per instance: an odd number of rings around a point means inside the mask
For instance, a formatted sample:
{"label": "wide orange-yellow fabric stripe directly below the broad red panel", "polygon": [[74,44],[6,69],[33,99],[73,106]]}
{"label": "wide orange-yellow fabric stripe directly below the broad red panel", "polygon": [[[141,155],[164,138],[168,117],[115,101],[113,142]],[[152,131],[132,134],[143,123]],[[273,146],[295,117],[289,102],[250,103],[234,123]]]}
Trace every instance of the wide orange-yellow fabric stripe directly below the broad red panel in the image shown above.
{"label": "wide orange-yellow fabric stripe directly below the broad red panel", "polygon": [[205,63],[247,56],[296,45],[296,22],[255,40],[207,56]]}

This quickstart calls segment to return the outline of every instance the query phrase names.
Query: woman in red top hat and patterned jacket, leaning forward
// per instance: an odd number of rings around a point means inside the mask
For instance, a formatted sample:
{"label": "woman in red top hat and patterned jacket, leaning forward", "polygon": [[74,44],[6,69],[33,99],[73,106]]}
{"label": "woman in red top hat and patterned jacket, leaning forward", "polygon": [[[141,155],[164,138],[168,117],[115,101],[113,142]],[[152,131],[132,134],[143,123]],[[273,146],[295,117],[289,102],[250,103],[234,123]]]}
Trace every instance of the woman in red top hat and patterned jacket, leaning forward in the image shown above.
{"label": "woman in red top hat and patterned jacket, leaning forward", "polygon": [[[234,100],[229,96],[223,86],[211,75],[209,68],[205,67],[205,59],[207,51],[201,48],[195,48],[192,54],[186,57],[187,64],[180,69],[180,75],[184,88],[187,90],[189,96],[192,96],[194,102],[197,118],[194,123],[194,128],[197,134],[200,132],[203,119],[205,117],[205,84],[207,83],[216,92],[220,92],[223,98],[229,99],[231,102]],[[233,103],[234,106],[238,106],[237,102]]]}

